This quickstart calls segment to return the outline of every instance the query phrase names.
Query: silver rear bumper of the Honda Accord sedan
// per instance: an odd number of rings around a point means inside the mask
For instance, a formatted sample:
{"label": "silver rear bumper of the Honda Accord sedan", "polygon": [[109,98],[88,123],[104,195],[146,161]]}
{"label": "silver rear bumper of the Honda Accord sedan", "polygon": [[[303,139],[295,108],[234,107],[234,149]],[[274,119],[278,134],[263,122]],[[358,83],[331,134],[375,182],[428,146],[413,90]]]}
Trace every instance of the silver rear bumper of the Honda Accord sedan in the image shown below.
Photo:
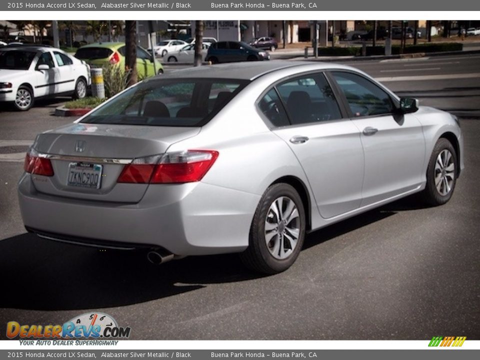
{"label": "silver rear bumper of the Honda Accord sedan", "polygon": [[138,203],[40,193],[26,173],[18,185],[25,227],[44,237],[85,244],[93,240],[100,246],[159,246],[176,255],[245,249],[259,199],[260,195],[203,182],[150,185]]}

